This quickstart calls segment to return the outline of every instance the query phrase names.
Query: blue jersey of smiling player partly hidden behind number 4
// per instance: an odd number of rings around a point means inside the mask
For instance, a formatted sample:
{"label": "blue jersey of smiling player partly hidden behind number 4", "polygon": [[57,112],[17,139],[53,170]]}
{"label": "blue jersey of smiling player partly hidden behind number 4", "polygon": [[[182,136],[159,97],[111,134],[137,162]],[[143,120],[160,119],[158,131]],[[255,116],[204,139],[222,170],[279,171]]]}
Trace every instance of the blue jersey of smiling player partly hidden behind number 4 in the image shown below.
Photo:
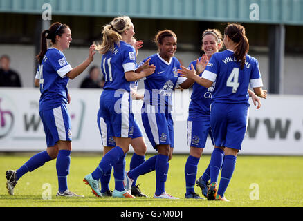
{"label": "blue jersey of smiling player partly hidden behind number 4", "polygon": [[[201,57],[199,58],[199,60]],[[190,63],[188,67],[191,69],[191,64],[196,68],[196,60]],[[203,73],[200,74],[200,77]],[[210,117],[210,102],[212,99],[212,92],[214,87],[205,88],[196,82],[192,85],[192,96],[190,101],[190,108],[188,110],[189,119],[197,119],[201,117]]]}

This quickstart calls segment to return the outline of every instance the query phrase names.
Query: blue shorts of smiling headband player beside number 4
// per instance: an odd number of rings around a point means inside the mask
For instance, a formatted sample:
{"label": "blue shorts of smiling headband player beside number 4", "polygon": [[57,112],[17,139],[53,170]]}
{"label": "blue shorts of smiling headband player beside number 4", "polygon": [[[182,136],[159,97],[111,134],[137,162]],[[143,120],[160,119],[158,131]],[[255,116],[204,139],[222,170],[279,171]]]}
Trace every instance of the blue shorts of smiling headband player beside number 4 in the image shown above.
{"label": "blue shorts of smiling headband player beside number 4", "polygon": [[205,148],[206,140],[210,135],[212,144],[214,145],[214,138],[212,137],[212,130],[210,128],[210,118],[199,118],[187,120],[187,145],[196,148]]}

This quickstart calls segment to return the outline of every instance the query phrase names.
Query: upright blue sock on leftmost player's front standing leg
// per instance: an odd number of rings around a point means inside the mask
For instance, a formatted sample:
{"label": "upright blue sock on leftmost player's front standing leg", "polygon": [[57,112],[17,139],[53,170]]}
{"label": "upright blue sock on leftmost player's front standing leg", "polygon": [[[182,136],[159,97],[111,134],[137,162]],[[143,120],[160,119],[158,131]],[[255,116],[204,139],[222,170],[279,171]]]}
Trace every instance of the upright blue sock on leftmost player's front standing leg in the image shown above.
{"label": "upright blue sock on leftmost player's front standing leg", "polygon": [[67,187],[67,175],[71,164],[71,151],[60,150],[57,156],[56,169],[58,175],[59,192],[64,193]]}

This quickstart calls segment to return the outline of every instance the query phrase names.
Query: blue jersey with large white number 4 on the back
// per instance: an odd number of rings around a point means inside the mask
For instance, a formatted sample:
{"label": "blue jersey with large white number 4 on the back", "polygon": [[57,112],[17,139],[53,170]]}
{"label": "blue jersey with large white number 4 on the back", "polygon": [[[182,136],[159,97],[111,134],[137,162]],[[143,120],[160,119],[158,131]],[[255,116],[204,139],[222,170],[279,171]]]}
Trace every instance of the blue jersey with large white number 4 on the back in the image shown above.
{"label": "blue jersey with large white number 4 on the back", "polygon": [[252,88],[263,86],[257,59],[246,55],[246,63],[241,70],[232,50],[212,55],[202,77],[216,82],[213,102],[249,104],[249,84]]}

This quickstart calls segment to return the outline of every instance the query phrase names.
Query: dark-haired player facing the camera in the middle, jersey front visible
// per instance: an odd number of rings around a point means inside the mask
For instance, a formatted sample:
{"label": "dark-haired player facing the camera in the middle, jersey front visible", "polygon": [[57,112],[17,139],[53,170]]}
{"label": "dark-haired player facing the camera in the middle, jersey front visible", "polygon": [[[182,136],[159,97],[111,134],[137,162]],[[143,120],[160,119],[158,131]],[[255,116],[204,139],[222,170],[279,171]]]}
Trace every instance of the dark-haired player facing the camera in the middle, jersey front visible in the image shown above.
{"label": "dark-haired player facing the camera in the middle, jersey front visible", "polygon": [[[174,123],[172,120],[172,93],[174,88],[186,88],[185,77],[178,75],[180,63],[174,54],[177,37],[171,30],[162,30],[155,37],[158,53],[147,57],[156,66],[154,74],[146,77],[142,121],[145,132],[158,155],[149,158],[125,175],[125,183],[131,183],[139,175],[156,170],[156,192],[154,198],[177,199],[165,192],[165,182],[174,148]],[[144,62],[143,61],[143,62]],[[190,82],[193,82],[190,80]]]}

